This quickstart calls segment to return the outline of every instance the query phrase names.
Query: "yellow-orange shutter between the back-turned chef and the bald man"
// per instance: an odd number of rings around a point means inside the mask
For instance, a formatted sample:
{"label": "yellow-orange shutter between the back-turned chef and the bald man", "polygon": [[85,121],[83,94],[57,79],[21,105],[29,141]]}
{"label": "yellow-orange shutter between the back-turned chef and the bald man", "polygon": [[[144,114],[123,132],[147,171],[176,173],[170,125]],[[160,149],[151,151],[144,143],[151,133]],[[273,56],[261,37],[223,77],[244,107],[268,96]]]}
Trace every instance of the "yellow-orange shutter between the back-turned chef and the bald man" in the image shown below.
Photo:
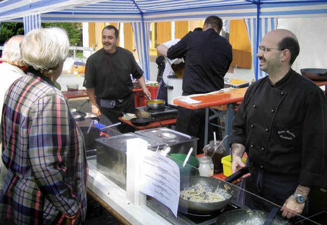
{"label": "yellow-orange shutter between the back-turned chef and the bald man", "polygon": [[229,42],[232,46],[232,67],[251,69],[251,44],[243,19],[230,20]]}

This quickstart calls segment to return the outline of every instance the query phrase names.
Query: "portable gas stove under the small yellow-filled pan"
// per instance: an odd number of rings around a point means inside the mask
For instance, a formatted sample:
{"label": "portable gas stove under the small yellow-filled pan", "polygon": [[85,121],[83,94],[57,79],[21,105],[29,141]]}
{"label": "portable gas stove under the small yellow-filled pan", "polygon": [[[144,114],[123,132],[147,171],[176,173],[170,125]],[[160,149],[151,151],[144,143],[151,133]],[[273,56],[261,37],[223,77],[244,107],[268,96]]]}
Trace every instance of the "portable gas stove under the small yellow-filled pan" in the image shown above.
{"label": "portable gas stove under the small yellow-filled pan", "polygon": [[167,120],[177,117],[177,109],[165,106],[162,109],[150,110],[147,106],[142,106],[135,108],[135,115],[156,120]]}

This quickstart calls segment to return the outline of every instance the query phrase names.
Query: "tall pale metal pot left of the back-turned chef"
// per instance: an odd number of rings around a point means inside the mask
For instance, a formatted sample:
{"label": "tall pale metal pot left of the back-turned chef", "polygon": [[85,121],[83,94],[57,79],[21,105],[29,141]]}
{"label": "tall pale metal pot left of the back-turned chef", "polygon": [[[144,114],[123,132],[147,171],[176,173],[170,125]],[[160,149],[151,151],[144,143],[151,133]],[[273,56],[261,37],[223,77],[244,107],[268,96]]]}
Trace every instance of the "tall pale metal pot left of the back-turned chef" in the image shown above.
{"label": "tall pale metal pot left of the back-turned chef", "polygon": [[167,88],[167,100],[169,106],[177,107],[177,105],[172,103],[172,100],[175,97],[182,95],[182,84],[183,79],[177,78],[175,75],[167,76],[167,85],[164,87]]}

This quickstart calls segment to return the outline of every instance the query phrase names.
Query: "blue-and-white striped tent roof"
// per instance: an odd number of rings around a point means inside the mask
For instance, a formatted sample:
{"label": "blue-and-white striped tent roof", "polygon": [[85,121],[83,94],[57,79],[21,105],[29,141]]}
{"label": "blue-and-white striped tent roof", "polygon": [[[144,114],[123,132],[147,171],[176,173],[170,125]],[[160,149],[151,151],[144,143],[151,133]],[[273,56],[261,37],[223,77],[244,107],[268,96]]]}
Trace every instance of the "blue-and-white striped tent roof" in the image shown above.
{"label": "blue-and-white striped tent roof", "polygon": [[[1,1],[1,0],[0,0]],[[5,0],[0,21],[22,21],[41,14],[46,21],[154,22],[200,20],[209,15],[224,19],[327,16],[327,0]]]}

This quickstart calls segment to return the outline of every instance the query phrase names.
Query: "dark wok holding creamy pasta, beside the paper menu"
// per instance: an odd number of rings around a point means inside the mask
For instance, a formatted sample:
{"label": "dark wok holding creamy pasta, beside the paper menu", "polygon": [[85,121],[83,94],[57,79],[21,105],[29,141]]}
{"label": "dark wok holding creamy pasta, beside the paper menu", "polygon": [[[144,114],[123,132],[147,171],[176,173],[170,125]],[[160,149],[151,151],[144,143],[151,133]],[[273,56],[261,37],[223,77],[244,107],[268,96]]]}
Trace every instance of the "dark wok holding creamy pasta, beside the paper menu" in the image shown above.
{"label": "dark wok holding creamy pasta, beside the paper menu", "polygon": [[179,198],[178,211],[181,213],[211,214],[224,208],[233,197],[233,189],[220,179],[206,176],[185,176],[180,178],[180,190],[188,189],[193,185],[201,184],[206,191],[216,191],[225,200],[217,202],[195,202]]}

